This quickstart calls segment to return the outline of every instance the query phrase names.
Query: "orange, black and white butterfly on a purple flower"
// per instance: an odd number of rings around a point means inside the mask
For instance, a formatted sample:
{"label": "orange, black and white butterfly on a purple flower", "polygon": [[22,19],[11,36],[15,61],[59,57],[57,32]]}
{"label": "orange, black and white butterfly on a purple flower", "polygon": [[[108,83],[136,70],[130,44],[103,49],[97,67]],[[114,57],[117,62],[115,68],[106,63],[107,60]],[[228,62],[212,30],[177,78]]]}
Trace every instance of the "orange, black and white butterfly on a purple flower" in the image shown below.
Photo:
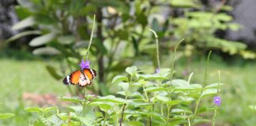
{"label": "orange, black and white butterfly on a purple flower", "polygon": [[85,87],[92,84],[93,78],[96,76],[96,70],[94,69],[81,69],[70,73],[66,76],[62,82],[66,85],[79,85]]}

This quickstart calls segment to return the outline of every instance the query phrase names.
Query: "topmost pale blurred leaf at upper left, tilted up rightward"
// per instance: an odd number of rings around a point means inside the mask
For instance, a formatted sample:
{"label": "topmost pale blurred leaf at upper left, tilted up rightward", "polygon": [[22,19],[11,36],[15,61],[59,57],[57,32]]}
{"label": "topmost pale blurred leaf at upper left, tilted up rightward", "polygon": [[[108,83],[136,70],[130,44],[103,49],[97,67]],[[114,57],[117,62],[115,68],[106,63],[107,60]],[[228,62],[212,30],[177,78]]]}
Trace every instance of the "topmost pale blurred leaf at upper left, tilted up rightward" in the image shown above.
{"label": "topmost pale blurred leaf at upper left, tilted up rightward", "polygon": [[18,22],[17,24],[14,24],[12,29],[15,31],[22,28],[27,28],[34,24],[36,24],[34,17],[27,17],[24,20],[21,20],[20,22]]}

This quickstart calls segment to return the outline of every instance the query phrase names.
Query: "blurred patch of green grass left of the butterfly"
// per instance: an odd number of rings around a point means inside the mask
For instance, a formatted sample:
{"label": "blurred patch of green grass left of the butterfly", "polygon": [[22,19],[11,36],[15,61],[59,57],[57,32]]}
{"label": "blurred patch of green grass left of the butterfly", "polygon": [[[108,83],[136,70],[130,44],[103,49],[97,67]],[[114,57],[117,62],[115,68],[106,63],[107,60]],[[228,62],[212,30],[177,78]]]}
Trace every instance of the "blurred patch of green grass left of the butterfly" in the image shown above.
{"label": "blurred patch of green grass left of the butterfly", "polygon": [[0,112],[16,114],[10,120],[0,120],[0,125],[28,125],[32,115],[24,112],[28,104],[21,98],[26,92],[39,95],[68,93],[61,81],[48,74],[45,65],[41,61],[0,59]]}

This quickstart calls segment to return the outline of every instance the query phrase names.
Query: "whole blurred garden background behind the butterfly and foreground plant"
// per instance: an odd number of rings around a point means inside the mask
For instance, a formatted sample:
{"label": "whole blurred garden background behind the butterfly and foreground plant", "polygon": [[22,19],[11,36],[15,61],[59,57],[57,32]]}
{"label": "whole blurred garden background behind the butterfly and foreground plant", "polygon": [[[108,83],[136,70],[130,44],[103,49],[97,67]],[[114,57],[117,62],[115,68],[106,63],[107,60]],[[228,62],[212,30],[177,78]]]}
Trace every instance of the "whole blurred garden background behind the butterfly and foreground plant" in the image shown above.
{"label": "whole blurred garden background behind the butterfly and foreground plant", "polygon": [[[79,69],[85,56],[96,15],[89,50],[91,68],[99,76],[88,87],[96,95],[118,91],[114,76],[136,65],[155,72],[156,44],[160,65],[171,67],[175,44],[175,77],[201,83],[205,56],[208,83],[221,72],[223,100],[217,125],[254,125],[256,20],[254,0],[1,0],[0,1],[0,112],[15,113],[5,125],[28,125],[33,119],[26,106],[62,106],[57,97],[79,95],[80,88],[66,87],[62,79]],[[212,99],[202,106],[213,106]],[[212,116],[212,115],[204,115]]]}

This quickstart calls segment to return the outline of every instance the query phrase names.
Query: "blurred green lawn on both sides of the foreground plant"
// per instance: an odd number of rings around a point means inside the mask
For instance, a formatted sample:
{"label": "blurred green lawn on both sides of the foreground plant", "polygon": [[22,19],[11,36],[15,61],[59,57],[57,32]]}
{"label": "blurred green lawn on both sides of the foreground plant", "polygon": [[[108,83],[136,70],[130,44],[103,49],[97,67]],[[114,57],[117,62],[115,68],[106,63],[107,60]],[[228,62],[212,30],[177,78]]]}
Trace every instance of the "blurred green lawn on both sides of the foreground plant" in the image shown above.
{"label": "blurred green lawn on both sides of the foreground plant", "polygon": [[[9,120],[0,120],[0,124],[28,125],[35,115],[25,112],[27,106],[35,106],[24,100],[24,93],[30,95],[66,95],[68,91],[61,81],[53,79],[45,69],[45,65],[57,65],[55,62],[38,60],[17,60],[9,58],[0,59],[0,98],[2,113],[15,113],[16,116]],[[178,75],[182,75],[183,63],[176,64]],[[190,64],[190,72],[194,72],[192,82],[201,82],[205,62],[195,61]],[[256,104],[254,98],[256,63],[243,65],[230,65],[223,61],[211,61],[209,64],[208,83],[216,82],[218,71],[221,72],[220,97],[222,105],[217,115],[218,125],[251,125],[256,124],[253,111],[248,106]],[[180,76],[182,77],[182,76]],[[183,76],[187,78],[188,76]],[[212,99],[202,102],[203,106],[213,106]],[[208,115],[205,115],[208,116]],[[211,115],[210,115],[211,116]]]}

